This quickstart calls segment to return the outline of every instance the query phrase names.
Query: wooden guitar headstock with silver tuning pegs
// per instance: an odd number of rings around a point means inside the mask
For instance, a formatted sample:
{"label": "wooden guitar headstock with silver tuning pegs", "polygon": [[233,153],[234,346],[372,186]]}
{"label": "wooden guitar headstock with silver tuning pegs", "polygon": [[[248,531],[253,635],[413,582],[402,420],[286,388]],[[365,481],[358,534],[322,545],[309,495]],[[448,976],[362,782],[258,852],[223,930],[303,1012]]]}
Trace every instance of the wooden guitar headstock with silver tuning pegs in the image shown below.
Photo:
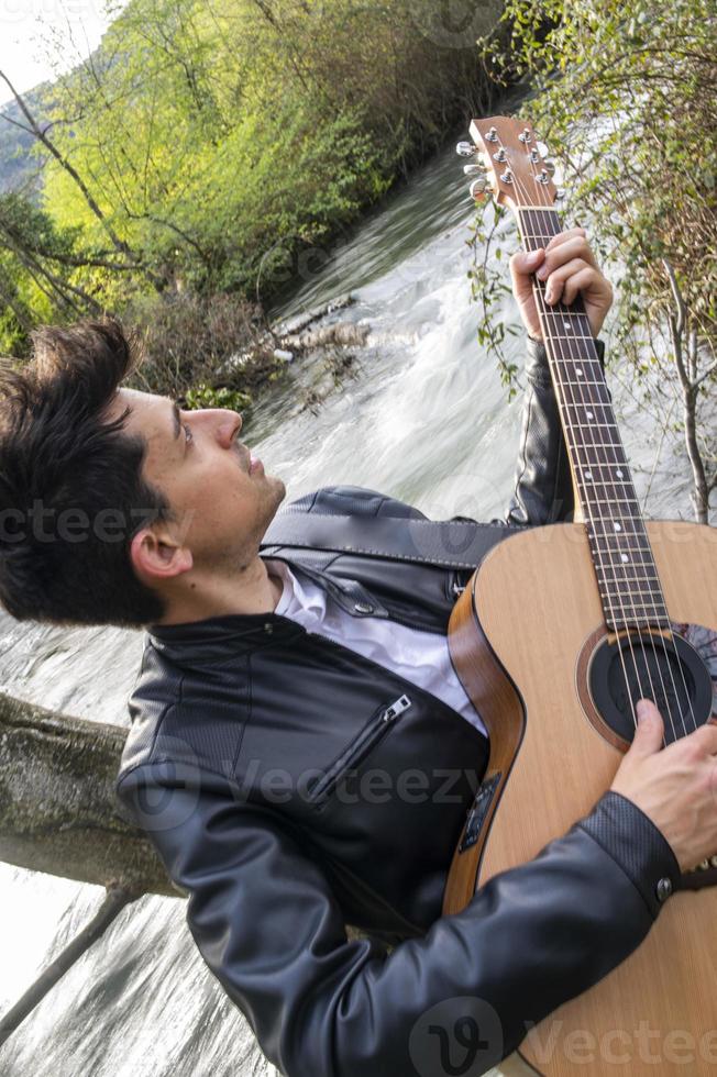
{"label": "wooden guitar headstock with silver tuning pegs", "polygon": [[548,147],[529,122],[501,115],[473,120],[471,137],[473,143],[460,142],[456,151],[474,159],[464,170],[476,177],[471,185],[476,201],[493,195],[498,204],[517,211],[552,206],[562,197],[553,182],[555,166],[548,159]]}

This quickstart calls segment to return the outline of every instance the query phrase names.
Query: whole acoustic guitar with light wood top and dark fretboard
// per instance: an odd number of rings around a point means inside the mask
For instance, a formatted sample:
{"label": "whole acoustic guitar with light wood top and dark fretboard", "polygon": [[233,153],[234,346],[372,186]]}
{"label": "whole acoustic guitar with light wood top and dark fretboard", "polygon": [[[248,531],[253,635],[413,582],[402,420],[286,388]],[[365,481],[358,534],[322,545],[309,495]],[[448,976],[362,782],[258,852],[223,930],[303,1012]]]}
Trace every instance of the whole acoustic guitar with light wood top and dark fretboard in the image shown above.
{"label": "whole acoustic guitar with light wood top and dark fretboard", "polygon": [[[562,231],[530,124],[475,120],[459,153],[516,214],[527,251]],[[490,733],[444,912],[534,857],[611,785],[647,697],[665,743],[717,715],[717,529],[646,522],[580,300],[533,278],[580,522],[527,530],[487,555],[451,618],[453,664]],[[717,804],[716,804],[717,810]],[[717,854],[717,850],[715,851]],[[599,893],[595,895],[599,902]],[[631,957],[527,1030],[520,1073],[717,1073],[717,855],[683,876]]]}

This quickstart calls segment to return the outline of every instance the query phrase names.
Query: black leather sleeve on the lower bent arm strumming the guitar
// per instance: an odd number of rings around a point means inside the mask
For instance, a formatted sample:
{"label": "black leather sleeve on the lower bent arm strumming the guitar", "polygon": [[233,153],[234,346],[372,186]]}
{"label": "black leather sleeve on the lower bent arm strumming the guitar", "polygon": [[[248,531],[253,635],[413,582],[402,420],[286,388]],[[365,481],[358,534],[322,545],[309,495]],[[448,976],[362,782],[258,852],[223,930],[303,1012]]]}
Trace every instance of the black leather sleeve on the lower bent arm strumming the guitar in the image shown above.
{"label": "black leather sleeve on the lower bent arm strumming the guitar", "polygon": [[471,1072],[484,1072],[527,1022],[626,958],[658,914],[660,879],[679,880],[660,832],[607,793],[534,861],[387,955],[348,940],[310,852],[224,777],[142,764],[118,790],[187,891],[205,961],[287,1077],[432,1077],[466,1018],[482,1043]]}

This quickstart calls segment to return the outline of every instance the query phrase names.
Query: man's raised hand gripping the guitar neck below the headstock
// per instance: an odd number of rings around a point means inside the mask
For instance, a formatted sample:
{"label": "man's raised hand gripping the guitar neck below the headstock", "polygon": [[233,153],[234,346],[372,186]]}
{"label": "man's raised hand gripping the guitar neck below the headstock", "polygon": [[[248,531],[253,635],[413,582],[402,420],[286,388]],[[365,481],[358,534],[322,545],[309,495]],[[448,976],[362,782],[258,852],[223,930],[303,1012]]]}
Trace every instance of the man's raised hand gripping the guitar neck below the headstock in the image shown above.
{"label": "man's raised hand gripping the guitar neck below the headstock", "polygon": [[570,307],[582,295],[593,336],[600,331],[613,303],[613,286],[600,273],[585,236],[585,229],[570,229],[554,235],[544,248],[520,252],[510,259],[512,293],[534,340],[542,338],[542,331],[532,295],[533,274],[545,282],[545,302],[551,307],[558,302]]}

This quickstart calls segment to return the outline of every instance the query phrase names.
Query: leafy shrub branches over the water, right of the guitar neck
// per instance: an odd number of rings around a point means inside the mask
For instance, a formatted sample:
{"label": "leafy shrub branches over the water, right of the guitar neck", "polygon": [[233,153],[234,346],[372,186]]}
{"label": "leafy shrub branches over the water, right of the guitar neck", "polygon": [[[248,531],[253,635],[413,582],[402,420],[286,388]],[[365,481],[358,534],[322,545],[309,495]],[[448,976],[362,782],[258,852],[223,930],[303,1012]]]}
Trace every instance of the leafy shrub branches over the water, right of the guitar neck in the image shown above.
{"label": "leafy shrub branches over the water, right of the guitar neck", "polygon": [[[508,0],[503,23],[482,41],[484,60],[496,79],[533,87],[522,112],[564,162],[571,223],[588,229],[619,278],[618,352],[660,429],[680,429],[675,411],[690,425],[686,382],[695,385],[696,447],[714,488],[714,2]],[[482,295],[495,302],[495,284],[483,281]]]}

